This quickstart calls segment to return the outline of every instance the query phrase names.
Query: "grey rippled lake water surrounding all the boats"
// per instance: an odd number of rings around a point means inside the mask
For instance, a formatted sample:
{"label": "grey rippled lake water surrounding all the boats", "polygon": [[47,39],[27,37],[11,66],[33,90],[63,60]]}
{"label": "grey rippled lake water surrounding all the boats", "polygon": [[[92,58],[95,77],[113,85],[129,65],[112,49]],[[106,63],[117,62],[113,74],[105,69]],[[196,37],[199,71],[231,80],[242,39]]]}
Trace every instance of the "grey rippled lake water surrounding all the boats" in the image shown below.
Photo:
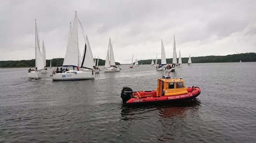
{"label": "grey rippled lake water surrounding all the boats", "polygon": [[120,67],[84,81],[0,69],[0,142],[256,142],[256,62],[182,64],[170,76],[200,87],[195,101],[136,108],[122,104],[122,87],[154,90],[166,73]]}

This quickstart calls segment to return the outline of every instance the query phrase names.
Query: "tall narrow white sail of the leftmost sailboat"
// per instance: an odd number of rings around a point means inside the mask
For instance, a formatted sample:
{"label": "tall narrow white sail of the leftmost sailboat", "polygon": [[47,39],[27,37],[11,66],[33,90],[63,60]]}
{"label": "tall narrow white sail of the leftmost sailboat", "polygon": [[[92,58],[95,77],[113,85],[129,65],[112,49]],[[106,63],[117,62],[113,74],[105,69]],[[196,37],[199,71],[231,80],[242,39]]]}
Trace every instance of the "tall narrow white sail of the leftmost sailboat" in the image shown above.
{"label": "tall narrow white sail of the leftmost sailboat", "polygon": [[39,49],[39,34],[38,34],[38,30],[37,30],[37,26],[35,28],[35,50],[36,50],[36,58],[35,58],[35,62],[36,62],[36,69],[37,70],[41,70],[44,69],[44,59],[41,55],[40,49]]}

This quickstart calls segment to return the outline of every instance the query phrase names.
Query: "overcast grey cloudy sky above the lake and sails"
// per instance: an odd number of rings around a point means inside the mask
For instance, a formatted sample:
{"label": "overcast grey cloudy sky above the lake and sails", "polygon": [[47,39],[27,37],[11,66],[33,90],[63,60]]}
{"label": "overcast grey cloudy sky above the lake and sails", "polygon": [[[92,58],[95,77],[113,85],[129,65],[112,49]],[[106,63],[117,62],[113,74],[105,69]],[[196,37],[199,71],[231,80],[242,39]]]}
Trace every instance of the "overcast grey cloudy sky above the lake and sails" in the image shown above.
{"label": "overcast grey cloudy sky above the lake and sails", "polygon": [[35,19],[46,59],[64,57],[74,11],[100,59],[109,37],[116,62],[160,59],[161,39],[172,58],[174,34],[177,57],[256,52],[255,0],[1,0],[0,60],[35,58]]}

